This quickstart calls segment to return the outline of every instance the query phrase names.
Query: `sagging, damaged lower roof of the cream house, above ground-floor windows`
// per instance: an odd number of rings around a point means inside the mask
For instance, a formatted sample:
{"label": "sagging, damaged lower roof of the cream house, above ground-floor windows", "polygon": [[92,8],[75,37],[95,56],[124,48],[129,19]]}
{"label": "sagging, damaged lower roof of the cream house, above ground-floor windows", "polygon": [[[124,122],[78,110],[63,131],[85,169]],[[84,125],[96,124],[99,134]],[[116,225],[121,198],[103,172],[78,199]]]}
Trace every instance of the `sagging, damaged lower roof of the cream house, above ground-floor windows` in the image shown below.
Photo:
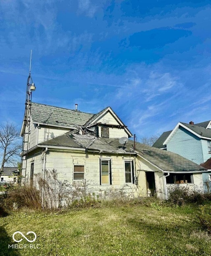
{"label": "sagging, damaged lower roof of the cream house, above ground-floor windows", "polygon": [[[129,140],[123,147],[119,139],[97,138],[93,135],[80,135],[67,132],[51,140],[40,143],[43,146],[60,146],[84,148],[88,151],[98,150],[99,153],[135,153],[134,142]],[[136,152],[138,155],[156,165],[164,172],[204,172],[206,169],[194,162],[169,151],[151,147],[142,143],[136,143]]]}

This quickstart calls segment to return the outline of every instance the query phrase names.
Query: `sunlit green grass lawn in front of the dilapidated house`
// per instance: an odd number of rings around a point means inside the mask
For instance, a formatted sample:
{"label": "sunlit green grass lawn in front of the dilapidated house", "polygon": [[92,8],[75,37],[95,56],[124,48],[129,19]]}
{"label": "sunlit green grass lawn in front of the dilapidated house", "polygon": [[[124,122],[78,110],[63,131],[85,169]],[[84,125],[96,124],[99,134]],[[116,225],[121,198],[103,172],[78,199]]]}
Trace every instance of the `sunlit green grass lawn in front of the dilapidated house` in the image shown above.
{"label": "sunlit green grass lawn in front of the dilapidated house", "polygon": [[[0,255],[211,255],[211,236],[200,231],[196,210],[133,206],[46,214],[18,211],[0,218]],[[13,233],[34,231],[33,246],[8,248]],[[31,240],[34,236],[26,235]],[[23,238],[15,235],[16,240]],[[23,239],[16,244],[30,242]],[[21,246],[20,246],[21,247]]]}

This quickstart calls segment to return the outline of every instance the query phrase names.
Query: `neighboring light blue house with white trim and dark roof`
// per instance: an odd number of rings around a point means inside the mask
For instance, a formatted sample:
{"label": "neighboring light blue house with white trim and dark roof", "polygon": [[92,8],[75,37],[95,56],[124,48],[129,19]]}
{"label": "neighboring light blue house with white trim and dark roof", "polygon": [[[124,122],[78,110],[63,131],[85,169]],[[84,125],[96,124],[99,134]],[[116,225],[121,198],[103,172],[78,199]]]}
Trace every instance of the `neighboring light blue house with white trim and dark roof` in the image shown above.
{"label": "neighboring light blue house with white trim and dark roof", "polygon": [[[189,124],[179,122],[173,130],[164,132],[153,144],[179,154],[196,164],[202,164],[211,158],[211,121]],[[211,173],[203,173],[203,182],[210,181]],[[204,185],[205,191],[207,187]]]}

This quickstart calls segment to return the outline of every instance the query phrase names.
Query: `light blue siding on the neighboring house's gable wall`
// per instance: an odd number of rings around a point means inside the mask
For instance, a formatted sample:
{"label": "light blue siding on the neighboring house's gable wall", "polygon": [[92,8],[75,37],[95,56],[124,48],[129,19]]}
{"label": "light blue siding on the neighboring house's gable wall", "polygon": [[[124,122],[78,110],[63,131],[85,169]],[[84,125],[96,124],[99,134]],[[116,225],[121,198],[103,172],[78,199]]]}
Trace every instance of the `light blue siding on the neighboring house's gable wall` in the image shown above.
{"label": "light blue siding on the neighboring house's gable wall", "polygon": [[179,127],[166,144],[167,151],[179,154],[196,164],[203,163],[201,139]]}

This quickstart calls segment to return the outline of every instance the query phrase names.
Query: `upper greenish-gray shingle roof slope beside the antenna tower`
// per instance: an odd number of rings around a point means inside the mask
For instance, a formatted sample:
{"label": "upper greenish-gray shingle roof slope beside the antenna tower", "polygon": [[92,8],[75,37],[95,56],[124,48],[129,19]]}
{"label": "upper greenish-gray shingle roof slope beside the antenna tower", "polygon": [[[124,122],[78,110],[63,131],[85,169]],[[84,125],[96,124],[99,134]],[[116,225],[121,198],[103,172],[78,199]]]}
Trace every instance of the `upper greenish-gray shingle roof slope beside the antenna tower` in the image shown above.
{"label": "upper greenish-gray shingle roof slope beside the antenna tower", "polygon": [[32,102],[31,116],[35,123],[71,127],[84,125],[94,114]]}

